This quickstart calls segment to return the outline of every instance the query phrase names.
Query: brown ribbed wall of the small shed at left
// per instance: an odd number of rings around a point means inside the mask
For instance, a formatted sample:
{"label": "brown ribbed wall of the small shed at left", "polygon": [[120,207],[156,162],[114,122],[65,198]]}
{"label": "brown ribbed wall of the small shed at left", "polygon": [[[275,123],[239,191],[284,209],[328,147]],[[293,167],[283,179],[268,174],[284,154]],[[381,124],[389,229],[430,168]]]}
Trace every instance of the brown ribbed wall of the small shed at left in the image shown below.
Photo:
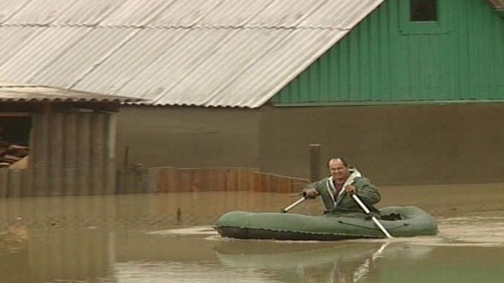
{"label": "brown ribbed wall of the small shed at left", "polygon": [[0,169],[0,197],[115,193],[115,114],[39,104],[27,166]]}

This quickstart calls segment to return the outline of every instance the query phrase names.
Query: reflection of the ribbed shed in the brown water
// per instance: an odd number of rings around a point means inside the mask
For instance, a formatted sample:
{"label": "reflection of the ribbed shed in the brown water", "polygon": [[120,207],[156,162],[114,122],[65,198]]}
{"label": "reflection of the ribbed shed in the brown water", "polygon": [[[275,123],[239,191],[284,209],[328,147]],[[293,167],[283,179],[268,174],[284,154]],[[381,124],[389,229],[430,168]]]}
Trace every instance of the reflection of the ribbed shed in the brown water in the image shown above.
{"label": "reflection of the ribbed shed in the brown water", "polygon": [[[2,200],[0,282],[86,280],[108,275],[113,231],[105,221],[113,200],[30,198]],[[86,215],[86,221],[76,221]]]}

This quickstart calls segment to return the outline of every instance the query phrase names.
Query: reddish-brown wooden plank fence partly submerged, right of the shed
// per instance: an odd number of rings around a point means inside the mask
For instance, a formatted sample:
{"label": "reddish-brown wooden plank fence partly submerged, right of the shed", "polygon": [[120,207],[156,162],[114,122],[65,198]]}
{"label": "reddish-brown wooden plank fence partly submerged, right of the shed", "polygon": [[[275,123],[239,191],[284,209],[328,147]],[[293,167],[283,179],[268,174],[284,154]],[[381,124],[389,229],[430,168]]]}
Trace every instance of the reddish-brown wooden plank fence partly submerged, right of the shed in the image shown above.
{"label": "reddish-brown wooden plank fence partly submerged, right of the shed", "polygon": [[118,193],[251,190],[300,192],[308,180],[250,168],[128,168],[118,173]]}

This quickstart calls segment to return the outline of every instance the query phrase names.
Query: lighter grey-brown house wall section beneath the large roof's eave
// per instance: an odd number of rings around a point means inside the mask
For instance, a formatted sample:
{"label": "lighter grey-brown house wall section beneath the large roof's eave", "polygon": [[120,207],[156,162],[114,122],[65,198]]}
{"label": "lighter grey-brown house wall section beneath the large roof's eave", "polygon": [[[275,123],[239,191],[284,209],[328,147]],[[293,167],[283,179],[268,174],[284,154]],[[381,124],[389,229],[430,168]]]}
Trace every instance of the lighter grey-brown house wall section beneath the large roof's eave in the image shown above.
{"label": "lighter grey-brown house wall section beneath the large roof's eave", "polygon": [[257,168],[258,115],[250,109],[125,106],[118,114],[118,168],[126,162]]}

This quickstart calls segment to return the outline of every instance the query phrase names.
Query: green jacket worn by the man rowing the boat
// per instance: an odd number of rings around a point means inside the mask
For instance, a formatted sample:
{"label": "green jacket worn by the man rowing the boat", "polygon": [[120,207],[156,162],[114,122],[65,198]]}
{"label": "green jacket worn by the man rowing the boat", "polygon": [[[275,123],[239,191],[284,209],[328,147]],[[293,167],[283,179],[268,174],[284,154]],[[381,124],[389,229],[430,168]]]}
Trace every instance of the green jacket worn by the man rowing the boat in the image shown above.
{"label": "green jacket worn by the man rowing the boat", "polygon": [[[356,169],[350,169],[350,177],[343,185],[343,192],[336,197],[336,202],[333,198],[333,187],[331,182],[332,177],[323,178],[315,183],[308,185],[308,188],[314,188],[322,197],[323,205],[326,207],[325,213],[330,214],[348,214],[348,216],[365,216],[365,213],[359,207],[359,204],[345,192],[346,185],[353,185],[357,191],[357,196],[364,202],[371,212],[379,215],[379,210],[373,206],[381,199],[379,191],[367,178],[363,177]],[[364,214],[364,215],[362,215]]]}

